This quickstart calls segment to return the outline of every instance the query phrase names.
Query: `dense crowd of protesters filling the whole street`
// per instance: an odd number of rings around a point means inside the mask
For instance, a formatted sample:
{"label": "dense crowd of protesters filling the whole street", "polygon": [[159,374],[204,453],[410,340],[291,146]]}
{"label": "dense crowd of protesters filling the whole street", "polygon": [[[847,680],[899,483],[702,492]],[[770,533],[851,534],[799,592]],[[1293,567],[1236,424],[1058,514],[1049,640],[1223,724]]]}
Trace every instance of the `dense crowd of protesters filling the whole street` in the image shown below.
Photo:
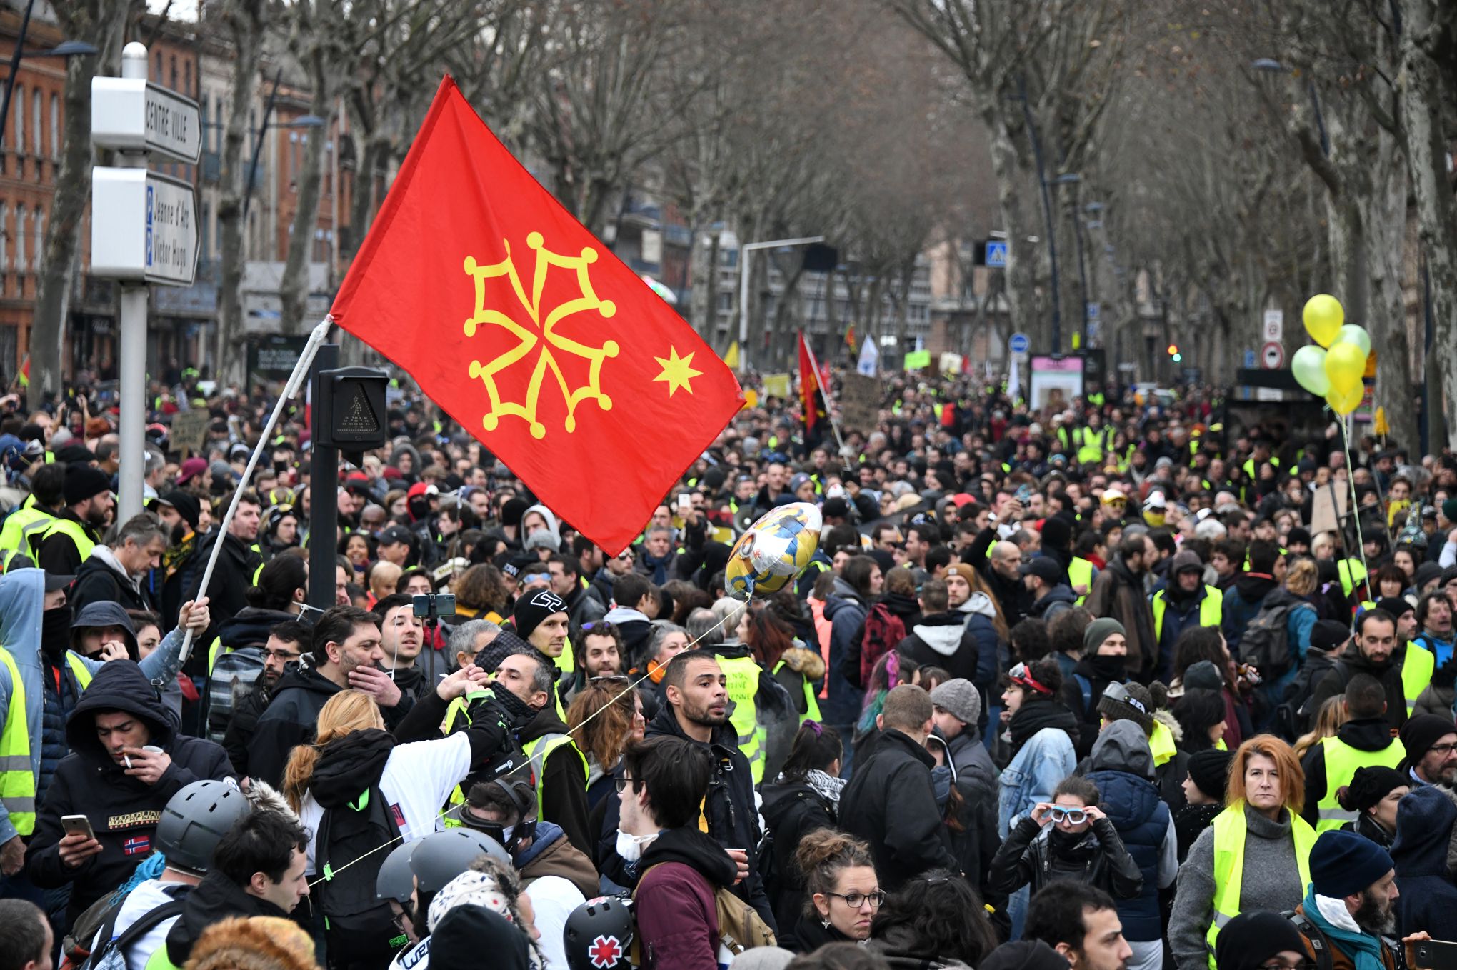
{"label": "dense crowd of protesters filling the whole street", "polygon": [[141,456],[0,402],[0,970],[1451,960],[1451,453],[895,376],[743,409],[613,552],[418,396],[249,482],[270,401],[153,401]]}

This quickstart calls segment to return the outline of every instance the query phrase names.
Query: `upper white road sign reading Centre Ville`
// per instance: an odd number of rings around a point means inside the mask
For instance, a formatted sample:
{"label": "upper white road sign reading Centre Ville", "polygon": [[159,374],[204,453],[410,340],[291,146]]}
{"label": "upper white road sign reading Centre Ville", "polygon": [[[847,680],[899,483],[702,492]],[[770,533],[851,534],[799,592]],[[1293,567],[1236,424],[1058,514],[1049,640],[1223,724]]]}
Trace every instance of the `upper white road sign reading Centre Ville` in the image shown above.
{"label": "upper white road sign reading Centre Ville", "polygon": [[157,151],[197,165],[203,118],[197,102],[140,77],[92,79],[92,143]]}

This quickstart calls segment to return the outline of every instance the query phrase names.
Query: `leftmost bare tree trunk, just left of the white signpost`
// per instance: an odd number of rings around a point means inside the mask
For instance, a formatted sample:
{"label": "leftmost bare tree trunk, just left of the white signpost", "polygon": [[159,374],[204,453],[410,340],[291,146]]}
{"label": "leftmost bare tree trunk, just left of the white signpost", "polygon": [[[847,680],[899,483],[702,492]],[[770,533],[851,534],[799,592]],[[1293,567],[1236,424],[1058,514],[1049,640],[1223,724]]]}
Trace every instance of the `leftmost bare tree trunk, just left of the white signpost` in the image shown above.
{"label": "leftmost bare tree trunk, just left of the white signpost", "polygon": [[31,409],[39,408],[50,395],[58,395],[64,385],[71,280],[80,264],[82,217],[92,185],[90,82],[93,73],[115,74],[119,68],[121,42],[130,17],[128,4],[125,10],[105,15],[93,9],[73,10],[70,22],[63,23],[67,36],[96,45],[101,54],[95,61],[73,57],[66,68],[61,165],[55,173],[51,214],[45,220],[45,259],[31,319],[31,387],[26,393]]}

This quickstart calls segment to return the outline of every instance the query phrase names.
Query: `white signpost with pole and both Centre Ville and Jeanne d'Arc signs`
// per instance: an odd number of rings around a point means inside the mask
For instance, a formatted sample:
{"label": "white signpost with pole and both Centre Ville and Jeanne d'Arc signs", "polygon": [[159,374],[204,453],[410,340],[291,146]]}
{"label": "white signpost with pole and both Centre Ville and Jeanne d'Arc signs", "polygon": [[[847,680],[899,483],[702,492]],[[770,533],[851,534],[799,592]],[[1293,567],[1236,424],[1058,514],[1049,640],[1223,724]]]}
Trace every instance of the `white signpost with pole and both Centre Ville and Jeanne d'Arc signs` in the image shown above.
{"label": "white signpost with pole and both Centre Ville and Jeanne d'Arc signs", "polygon": [[92,169],[92,272],[121,281],[121,463],[118,521],[141,511],[146,462],[147,284],[189,287],[197,277],[192,186],[147,170],[152,153],[197,165],[197,102],[147,80],[147,48],[121,51],[121,77],[92,79],[92,144],[115,149],[114,167]]}

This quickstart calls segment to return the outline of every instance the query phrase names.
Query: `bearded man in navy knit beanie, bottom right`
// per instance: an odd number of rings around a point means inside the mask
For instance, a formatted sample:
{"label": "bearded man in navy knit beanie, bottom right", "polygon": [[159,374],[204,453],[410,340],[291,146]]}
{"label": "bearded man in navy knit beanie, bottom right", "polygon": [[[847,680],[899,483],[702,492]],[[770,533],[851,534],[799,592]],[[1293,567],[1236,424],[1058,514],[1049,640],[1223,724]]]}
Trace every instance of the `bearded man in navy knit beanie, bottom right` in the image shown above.
{"label": "bearded man in navy knit beanie, bottom right", "polygon": [[1291,922],[1311,961],[1329,953],[1332,970],[1394,970],[1383,937],[1396,932],[1397,896],[1386,849],[1354,832],[1324,832],[1310,851],[1310,886]]}

